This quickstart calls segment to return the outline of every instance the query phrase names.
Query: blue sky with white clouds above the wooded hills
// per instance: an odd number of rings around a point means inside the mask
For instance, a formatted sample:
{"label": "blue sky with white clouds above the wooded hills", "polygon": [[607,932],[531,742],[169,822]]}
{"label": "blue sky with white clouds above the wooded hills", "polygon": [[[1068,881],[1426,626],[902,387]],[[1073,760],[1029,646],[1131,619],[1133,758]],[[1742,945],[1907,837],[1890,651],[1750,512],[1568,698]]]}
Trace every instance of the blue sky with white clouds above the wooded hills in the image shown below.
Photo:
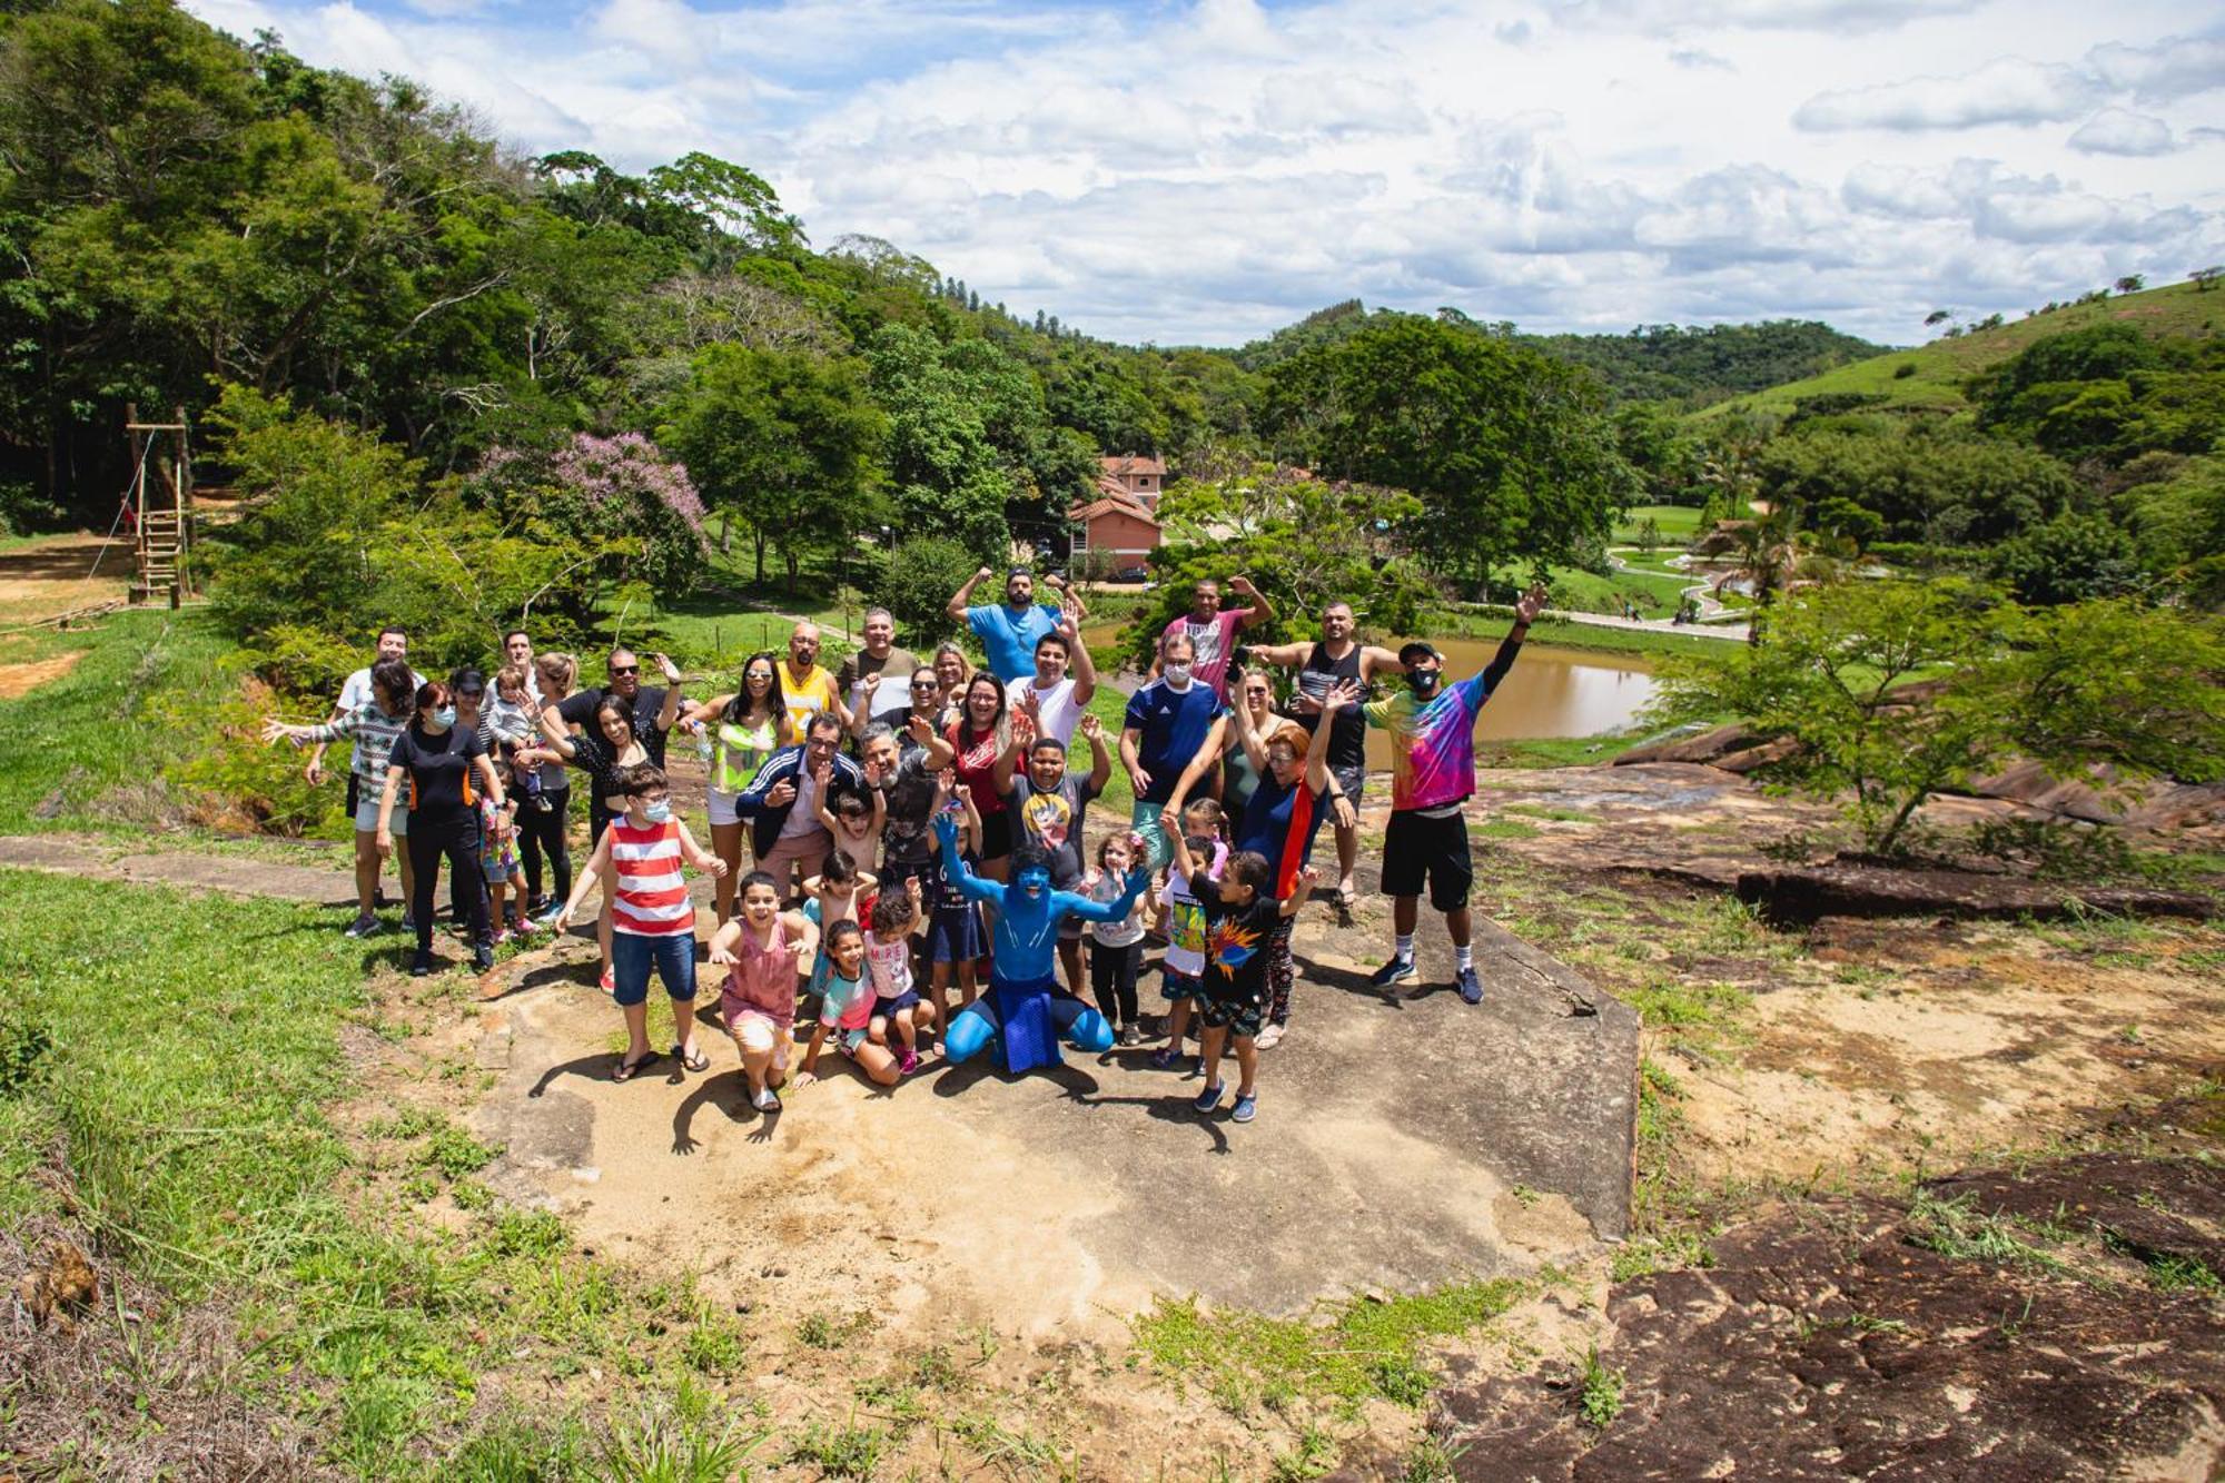
{"label": "blue sky with white clouds above the wooded hills", "polygon": [[2058,0],[185,0],[525,151],[750,165],[1019,314],[1339,298],[1891,343],[2225,261],[2225,9]]}

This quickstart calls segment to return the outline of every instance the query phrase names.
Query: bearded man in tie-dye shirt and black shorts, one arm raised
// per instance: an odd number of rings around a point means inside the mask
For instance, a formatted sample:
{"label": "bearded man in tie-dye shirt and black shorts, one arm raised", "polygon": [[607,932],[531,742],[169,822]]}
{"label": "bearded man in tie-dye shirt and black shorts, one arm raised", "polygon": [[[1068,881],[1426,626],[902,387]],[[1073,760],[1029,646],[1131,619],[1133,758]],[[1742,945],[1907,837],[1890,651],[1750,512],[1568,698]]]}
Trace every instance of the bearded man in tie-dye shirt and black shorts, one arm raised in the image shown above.
{"label": "bearded man in tie-dye shirt and black shorts, one arm raised", "polygon": [[1422,915],[1422,886],[1428,904],[1444,913],[1453,937],[1453,984],[1468,1004],[1484,1000],[1475,978],[1475,953],[1468,946],[1468,884],[1475,860],[1468,851],[1468,819],[1462,804],[1475,793],[1475,717],[1513,668],[1531,619],[1544,608],[1544,583],[1533,586],[1515,603],[1515,626],[1482,675],[1462,679],[1451,690],[1444,684],[1444,657],[1428,644],[1404,646],[1397,657],[1406,666],[1406,690],[1391,699],[1362,706],[1368,726],[1391,733],[1391,826],[1384,831],[1384,895],[1391,897],[1391,924],[1397,933],[1391,962],[1368,980],[1388,989],[1413,978],[1413,929]]}

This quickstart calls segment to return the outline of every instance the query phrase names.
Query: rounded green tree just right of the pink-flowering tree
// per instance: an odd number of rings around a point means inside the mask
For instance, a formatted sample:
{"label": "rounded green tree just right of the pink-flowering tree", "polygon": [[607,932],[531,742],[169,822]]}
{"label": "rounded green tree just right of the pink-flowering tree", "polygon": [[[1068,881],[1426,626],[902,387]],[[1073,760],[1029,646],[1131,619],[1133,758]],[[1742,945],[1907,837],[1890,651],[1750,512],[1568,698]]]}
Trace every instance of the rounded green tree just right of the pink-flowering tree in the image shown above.
{"label": "rounded green tree just right of the pink-flowering tree", "polygon": [[794,592],[803,554],[879,523],[870,503],[886,419],[857,361],[712,345],[656,436],[710,503],[750,528],[756,581],[777,546]]}

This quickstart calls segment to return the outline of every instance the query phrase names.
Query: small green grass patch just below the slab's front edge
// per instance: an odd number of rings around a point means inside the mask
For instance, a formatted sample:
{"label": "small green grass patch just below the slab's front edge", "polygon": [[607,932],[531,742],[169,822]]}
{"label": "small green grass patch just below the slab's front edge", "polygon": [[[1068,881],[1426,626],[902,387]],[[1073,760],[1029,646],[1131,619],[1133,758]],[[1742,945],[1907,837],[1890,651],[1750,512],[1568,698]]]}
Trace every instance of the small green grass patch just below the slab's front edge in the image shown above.
{"label": "small green grass patch just below the slab's front edge", "polygon": [[1161,1374],[1202,1385],[1233,1414],[1297,1398],[1420,1405],[1437,1385],[1424,1347],[1484,1327],[1522,1294],[1511,1278],[1455,1283],[1384,1303],[1348,1298],[1319,1320],[1159,1298],[1135,1320],[1135,1338]]}

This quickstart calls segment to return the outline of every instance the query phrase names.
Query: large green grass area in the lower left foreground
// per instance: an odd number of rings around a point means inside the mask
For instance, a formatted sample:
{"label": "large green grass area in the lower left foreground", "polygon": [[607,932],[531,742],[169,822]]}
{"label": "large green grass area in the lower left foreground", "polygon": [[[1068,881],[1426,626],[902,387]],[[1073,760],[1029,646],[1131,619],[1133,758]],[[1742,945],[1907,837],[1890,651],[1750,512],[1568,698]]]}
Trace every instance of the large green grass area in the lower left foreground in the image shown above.
{"label": "large green grass area in the lower left foreground", "polygon": [[[136,1329],[151,1374],[165,1323],[209,1298],[256,1336],[225,1383],[298,1418],[343,1472],[469,1476],[581,1436],[674,1465],[734,1456],[732,1430],[627,1410],[739,1363],[739,1334],[685,1283],[578,1256],[547,1211],[474,1198],[461,1222],[427,1222],[414,1200],[443,1178],[476,1189],[461,1176],[494,1156],[441,1113],[389,1113],[369,1156],[340,1138],[340,1029],[405,1033],[365,989],[392,949],[309,906],[109,880],[0,871],[0,1227],[69,1218],[102,1263],[158,1285],[167,1300]],[[474,1427],[523,1407],[527,1430]],[[100,1443],[129,1456],[158,1414],[102,1416]],[[456,1447],[478,1461],[432,1461]]]}

